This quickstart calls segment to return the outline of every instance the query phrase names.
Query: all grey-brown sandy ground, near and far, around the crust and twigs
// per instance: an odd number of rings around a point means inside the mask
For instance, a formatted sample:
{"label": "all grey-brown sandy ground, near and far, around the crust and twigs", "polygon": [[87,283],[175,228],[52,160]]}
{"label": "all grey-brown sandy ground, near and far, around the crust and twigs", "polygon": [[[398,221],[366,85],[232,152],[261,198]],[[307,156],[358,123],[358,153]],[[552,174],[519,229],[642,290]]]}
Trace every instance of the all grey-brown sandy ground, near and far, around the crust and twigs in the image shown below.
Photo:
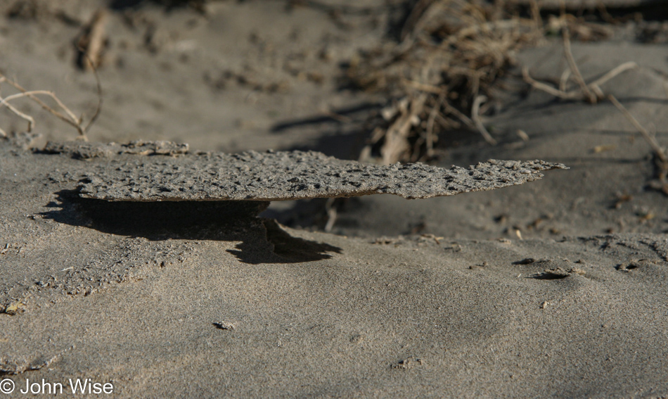
{"label": "all grey-brown sandy ground, near and far, around the crust and twigs", "polygon": [[[0,70],[90,115],[95,81],[75,68],[72,41],[105,3],[53,1],[10,18],[14,3],[0,7]],[[214,1],[205,15],[111,11],[105,102],[89,138],[355,158],[366,110],[383,99],[339,89],[339,64],[387,41],[401,11],[398,1],[363,6],[373,12],[278,1]],[[665,45],[638,43],[636,28],[573,52],[587,80],[635,61],[603,89],[664,143]],[[561,51],[548,40],[518,63],[558,80]],[[521,86],[518,75],[507,87]],[[448,198],[353,198],[335,234],[321,232],[317,201],[273,203],[269,219],[189,202],[117,217],[76,193],[100,159],[2,140],[0,380],[17,390],[8,397],[42,379],[68,397],[77,378],[113,384],[120,398],[666,397],[668,214],[666,196],[648,189],[650,147],[607,102],[526,89],[498,101],[485,124],[500,144],[447,137],[438,165],[543,159],[571,169]],[[17,104],[38,117],[35,148],[76,137]],[[25,130],[0,112],[6,132]]]}

